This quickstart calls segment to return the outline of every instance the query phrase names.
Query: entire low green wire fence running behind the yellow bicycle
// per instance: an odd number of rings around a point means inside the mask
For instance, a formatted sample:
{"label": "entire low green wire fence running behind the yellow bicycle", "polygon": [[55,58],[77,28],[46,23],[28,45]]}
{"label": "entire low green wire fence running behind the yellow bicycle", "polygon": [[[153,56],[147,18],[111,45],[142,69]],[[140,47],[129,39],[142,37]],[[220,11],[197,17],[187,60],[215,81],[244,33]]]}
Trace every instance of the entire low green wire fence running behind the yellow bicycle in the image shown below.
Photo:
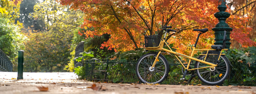
{"label": "entire low green wire fence running behind the yellow bicycle", "polygon": [[[135,73],[136,60],[108,60],[108,59],[91,59],[86,60],[84,63],[86,79],[90,81],[104,81],[111,82],[117,81],[117,83],[141,83]],[[256,64],[240,64],[232,65],[230,71],[231,85],[246,85],[255,86],[255,71]],[[193,67],[193,65],[191,65]],[[182,66],[180,64],[169,64],[169,75],[165,81],[161,84],[187,84],[186,81],[190,78],[190,75],[186,76],[186,80],[179,80],[182,78]],[[195,77],[192,84],[203,84]]]}

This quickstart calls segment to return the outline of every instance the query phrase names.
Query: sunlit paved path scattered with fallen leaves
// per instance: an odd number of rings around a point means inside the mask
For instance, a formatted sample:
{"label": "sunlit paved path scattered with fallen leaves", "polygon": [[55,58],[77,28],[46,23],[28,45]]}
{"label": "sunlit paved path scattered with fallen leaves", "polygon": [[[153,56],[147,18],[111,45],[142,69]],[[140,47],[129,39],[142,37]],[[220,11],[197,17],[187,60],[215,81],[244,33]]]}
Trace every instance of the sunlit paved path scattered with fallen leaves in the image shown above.
{"label": "sunlit paved path scattered with fallen leaves", "polygon": [[[23,80],[15,80],[14,78],[17,78],[17,72],[0,72],[0,94],[256,94],[256,87],[248,86],[145,85],[89,82],[76,80],[77,75],[72,72],[24,73]],[[95,87],[92,86],[93,84]],[[48,90],[40,91],[38,87],[45,87]]]}

